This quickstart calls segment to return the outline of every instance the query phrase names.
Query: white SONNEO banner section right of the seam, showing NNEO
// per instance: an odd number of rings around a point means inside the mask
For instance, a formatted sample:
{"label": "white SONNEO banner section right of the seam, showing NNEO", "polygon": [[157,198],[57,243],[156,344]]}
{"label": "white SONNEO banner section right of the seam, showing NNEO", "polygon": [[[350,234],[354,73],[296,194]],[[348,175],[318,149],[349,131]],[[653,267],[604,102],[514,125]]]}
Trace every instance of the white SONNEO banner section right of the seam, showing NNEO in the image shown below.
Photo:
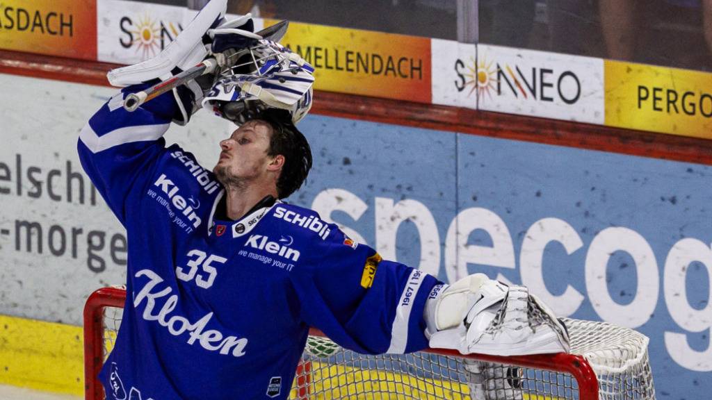
{"label": "white SONNEO banner section right of the seam, showing NNEO", "polygon": [[603,60],[478,44],[479,109],[603,124]]}

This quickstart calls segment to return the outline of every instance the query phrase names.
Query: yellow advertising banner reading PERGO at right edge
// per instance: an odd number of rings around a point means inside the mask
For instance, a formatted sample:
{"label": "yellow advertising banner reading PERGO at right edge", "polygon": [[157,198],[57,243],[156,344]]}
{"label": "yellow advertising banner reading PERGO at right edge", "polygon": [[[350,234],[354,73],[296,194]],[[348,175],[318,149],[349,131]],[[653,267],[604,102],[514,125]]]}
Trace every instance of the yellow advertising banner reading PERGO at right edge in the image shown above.
{"label": "yellow advertising banner reading PERGO at right edge", "polygon": [[606,125],[712,139],[712,74],[605,61]]}

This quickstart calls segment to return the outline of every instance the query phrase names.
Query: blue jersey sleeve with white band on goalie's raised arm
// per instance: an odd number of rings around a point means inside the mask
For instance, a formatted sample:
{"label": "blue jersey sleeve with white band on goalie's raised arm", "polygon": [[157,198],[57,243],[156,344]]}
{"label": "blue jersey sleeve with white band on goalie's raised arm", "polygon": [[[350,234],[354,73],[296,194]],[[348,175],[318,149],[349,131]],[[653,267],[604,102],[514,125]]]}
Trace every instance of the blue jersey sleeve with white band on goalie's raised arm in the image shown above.
{"label": "blue jersey sleeve with white band on goalie's raised arm", "polygon": [[123,225],[127,199],[150,179],[147,171],[164,151],[163,135],[177,108],[169,92],[135,112],[124,110],[126,93],[141,89],[125,88],[106,102],[83,127],[77,144],[82,167]]}

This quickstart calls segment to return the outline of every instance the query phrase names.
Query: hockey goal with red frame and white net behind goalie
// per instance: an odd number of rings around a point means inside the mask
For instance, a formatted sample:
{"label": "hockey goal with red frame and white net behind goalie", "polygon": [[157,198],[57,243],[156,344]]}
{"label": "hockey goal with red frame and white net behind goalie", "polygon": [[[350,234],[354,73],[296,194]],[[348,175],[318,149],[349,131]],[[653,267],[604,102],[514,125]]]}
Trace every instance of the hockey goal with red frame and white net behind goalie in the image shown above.
{"label": "hockey goal with red frame and white net behind goalie", "polygon": [[[96,378],[121,323],[126,292],[96,290],[84,310],[85,396],[104,399]],[[571,354],[463,356],[446,349],[358,354],[310,330],[289,399],[654,399],[648,338],[604,322],[565,320]]]}

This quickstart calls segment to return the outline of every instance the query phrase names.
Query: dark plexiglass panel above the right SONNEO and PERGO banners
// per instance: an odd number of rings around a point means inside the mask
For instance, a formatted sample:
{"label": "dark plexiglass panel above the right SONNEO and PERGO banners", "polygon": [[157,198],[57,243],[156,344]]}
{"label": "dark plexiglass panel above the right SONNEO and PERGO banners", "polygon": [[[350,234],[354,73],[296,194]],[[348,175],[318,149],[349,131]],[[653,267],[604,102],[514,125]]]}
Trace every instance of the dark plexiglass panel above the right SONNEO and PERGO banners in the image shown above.
{"label": "dark plexiglass panel above the right SONNEO and PERGO banners", "polygon": [[712,0],[479,0],[481,43],[712,70]]}

